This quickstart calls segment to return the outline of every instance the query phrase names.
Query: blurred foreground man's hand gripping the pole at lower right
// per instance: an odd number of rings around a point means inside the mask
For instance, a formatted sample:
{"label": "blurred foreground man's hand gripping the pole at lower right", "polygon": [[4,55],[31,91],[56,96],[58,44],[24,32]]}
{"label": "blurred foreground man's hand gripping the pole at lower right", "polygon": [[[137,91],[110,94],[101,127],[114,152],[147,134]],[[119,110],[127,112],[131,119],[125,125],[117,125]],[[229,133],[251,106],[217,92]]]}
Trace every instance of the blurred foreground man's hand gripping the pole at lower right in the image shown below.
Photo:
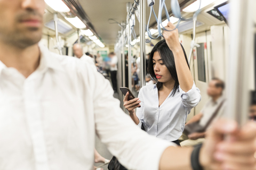
{"label": "blurred foreground man's hand gripping the pole at lower right", "polygon": [[[228,135],[225,140],[225,135]],[[201,149],[199,160],[205,169],[255,169],[256,124],[241,129],[235,122],[215,122]]]}

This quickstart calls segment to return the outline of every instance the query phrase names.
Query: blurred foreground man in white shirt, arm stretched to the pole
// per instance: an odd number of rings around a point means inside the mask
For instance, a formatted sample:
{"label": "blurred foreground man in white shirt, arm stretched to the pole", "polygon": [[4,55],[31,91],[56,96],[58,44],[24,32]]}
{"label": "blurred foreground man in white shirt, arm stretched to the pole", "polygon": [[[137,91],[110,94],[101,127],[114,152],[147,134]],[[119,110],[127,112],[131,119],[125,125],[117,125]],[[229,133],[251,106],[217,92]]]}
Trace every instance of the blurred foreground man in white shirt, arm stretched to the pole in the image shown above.
{"label": "blurred foreground man in white shirt, arm stretched to the pole", "polygon": [[[91,170],[95,133],[128,169],[191,169],[193,149],[139,130],[90,64],[38,45],[44,5],[0,0],[0,169]],[[253,169],[255,131],[254,123],[238,130],[220,121],[196,152],[197,164]]]}

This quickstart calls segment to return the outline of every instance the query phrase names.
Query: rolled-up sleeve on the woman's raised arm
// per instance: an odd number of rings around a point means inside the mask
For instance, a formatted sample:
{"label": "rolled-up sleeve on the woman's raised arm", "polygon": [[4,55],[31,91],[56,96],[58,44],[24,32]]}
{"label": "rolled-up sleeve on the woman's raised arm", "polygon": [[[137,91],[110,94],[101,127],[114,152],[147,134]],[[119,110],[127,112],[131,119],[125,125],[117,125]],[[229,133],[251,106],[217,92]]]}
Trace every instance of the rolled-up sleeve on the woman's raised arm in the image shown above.
{"label": "rolled-up sleeve on the woman's raised arm", "polygon": [[200,90],[196,87],[195,82],[189,91],[185,92],[180,87],[179,90],[181,92],[181,101],[188,109],[196,107],[199,101],[201,101]]}

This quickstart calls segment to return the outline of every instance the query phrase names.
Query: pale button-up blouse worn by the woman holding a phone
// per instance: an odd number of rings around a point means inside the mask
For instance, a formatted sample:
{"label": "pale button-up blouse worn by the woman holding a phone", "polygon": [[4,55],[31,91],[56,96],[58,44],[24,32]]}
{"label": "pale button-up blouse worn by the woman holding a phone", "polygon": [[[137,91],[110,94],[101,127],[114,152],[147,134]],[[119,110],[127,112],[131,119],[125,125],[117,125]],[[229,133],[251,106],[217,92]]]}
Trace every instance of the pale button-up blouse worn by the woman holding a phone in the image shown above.
{"label": "pale button-up blouse worn by the woman holding a phone", "polygon": [[[172,93],[172,92],[171,92]],[[178,140],[184,130],[187,115],[201,100],[200,90],[195,83],[188,91],[180,87],[174,96],[169,96],[159,106],[158,90],[155,84],[144,86],[139,92],[141,107],[136,115],[148,134],[167,141]]]}

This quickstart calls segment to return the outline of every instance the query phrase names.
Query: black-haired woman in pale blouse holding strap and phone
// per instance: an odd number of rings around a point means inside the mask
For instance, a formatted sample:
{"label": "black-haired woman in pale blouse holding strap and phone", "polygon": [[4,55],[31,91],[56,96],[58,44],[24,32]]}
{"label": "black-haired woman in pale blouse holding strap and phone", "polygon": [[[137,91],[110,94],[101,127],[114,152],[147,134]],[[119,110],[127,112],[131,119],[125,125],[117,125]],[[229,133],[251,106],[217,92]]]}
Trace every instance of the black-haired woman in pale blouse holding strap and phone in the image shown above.
{"label": "black-haired woman in pale blouse holding strap and phone", "polygon": [[[166,29],[174,29],[169,22]],[[175,142],[179,145],[187,115],[201,100],[191,76],[187,56],[179,43],[178,29],[164,31],[164,40],[153,48],[148,72],[156,84],[142,87],[138,98],[127,101],[124,106],[132,120],[148,134]],[[137,108],[137,113],[134,109]]]}

